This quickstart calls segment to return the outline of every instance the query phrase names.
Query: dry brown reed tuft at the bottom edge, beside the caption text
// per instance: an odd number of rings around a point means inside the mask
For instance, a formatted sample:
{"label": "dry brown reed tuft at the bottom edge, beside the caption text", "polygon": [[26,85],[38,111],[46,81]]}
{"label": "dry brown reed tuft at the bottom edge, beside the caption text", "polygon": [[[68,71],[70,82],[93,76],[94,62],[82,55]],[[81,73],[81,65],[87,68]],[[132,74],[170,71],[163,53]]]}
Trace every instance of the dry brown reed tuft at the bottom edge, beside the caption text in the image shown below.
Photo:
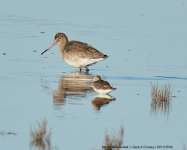
{"label": "dry brown reed tuft at the bottom edge, beside the caption text", "polygon": [[109,135],[106,130],[105,135],[105,146],[108,148],[105,148],[105,150],[112,150],[112,147],[116,147],[115,150],[119,150],[120,146],[123,144],[123,135],[124,135],[124,128],[121,126],[119,129],[118,134],[112,133],[112,135]]}

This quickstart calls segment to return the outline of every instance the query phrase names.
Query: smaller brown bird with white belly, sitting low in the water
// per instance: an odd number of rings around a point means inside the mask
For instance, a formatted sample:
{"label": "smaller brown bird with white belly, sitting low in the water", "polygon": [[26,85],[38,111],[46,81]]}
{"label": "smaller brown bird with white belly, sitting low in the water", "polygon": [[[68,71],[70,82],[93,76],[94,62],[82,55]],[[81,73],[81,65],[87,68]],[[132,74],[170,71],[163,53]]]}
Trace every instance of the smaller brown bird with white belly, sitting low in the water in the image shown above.
{"label": "smaller brown bird with white belly, sitting low in the water", "polygon": [[116,90],[116,88],[111,87],[107,81],[101,80],[100,76],[94,77],[92,86],[93,89],[100,94],[106,94]]}

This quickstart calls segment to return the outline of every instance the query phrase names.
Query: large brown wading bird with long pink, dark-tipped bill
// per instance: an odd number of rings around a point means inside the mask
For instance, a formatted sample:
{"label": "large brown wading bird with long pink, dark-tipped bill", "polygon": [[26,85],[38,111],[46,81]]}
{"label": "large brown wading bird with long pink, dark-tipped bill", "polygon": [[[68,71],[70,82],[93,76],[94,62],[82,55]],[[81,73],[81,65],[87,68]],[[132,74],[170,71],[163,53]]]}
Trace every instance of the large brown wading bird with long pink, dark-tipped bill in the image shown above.
{"label": "large brown wading bird with long pink, dark-tipped bill", "polygon": [[[59,53],[62,59],[67,64],[76,68],[80,68],[80,71],[82,68],[85,68],[86,71],[89,71],[88,66],[108,58],[107,55],[104,55],[87,43],[79,41],[68,41],[68,38],[64,33],[57,33],[55,35],[54,43],[43,53],[48,51],[56,44],[59,44]],[[41,53],[41,55],[43,53]]]}

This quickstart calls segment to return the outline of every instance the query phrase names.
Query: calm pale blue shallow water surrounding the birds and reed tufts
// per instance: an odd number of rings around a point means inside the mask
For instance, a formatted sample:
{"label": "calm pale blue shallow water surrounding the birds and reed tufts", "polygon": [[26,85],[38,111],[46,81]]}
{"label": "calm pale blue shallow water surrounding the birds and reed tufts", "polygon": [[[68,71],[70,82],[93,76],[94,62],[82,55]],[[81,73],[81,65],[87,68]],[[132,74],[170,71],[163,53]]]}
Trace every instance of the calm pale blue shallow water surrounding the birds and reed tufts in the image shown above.
{"label": "calm pale blue shallow water surrounding the birds and reed tufts", "polygon": [[[10,5],[11,2],[11,5]],[[101,149],[105,130],[124,126],[124,146],[186,144],[186,1],[3,1],[0,5],[0,149],[29,149],[30,126],[46,118],[51,146]],[[64,32],[109,58],[89,73],[67,65]],[[91,87],[100,75],[116,91],[100,104]],[[153,109],[150,85],[169,83],[167,109]],[[166,112],[164,112],[166,111]],[[3,133],[16,133],[3,134]],[[35,147],[38,149],[38,147]],[[146,149],[146,148],[145,148]]]}

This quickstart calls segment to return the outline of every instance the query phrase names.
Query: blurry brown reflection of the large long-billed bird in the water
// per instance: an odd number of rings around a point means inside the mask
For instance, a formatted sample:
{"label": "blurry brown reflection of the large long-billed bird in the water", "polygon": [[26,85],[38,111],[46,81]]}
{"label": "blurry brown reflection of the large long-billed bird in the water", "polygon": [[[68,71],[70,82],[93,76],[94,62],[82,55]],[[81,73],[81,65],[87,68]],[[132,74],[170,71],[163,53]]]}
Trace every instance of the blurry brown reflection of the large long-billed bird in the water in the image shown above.
{"label": "blurry brown reflection of the large long-billed bird in the water", "polygon": [[91,85],[93,78],[94,76],[83,71],[62,75],[58,82],[58,90],[53,92],[53,104],[63,105],[67,97],[83,98],[87,93],[93,92]]}

